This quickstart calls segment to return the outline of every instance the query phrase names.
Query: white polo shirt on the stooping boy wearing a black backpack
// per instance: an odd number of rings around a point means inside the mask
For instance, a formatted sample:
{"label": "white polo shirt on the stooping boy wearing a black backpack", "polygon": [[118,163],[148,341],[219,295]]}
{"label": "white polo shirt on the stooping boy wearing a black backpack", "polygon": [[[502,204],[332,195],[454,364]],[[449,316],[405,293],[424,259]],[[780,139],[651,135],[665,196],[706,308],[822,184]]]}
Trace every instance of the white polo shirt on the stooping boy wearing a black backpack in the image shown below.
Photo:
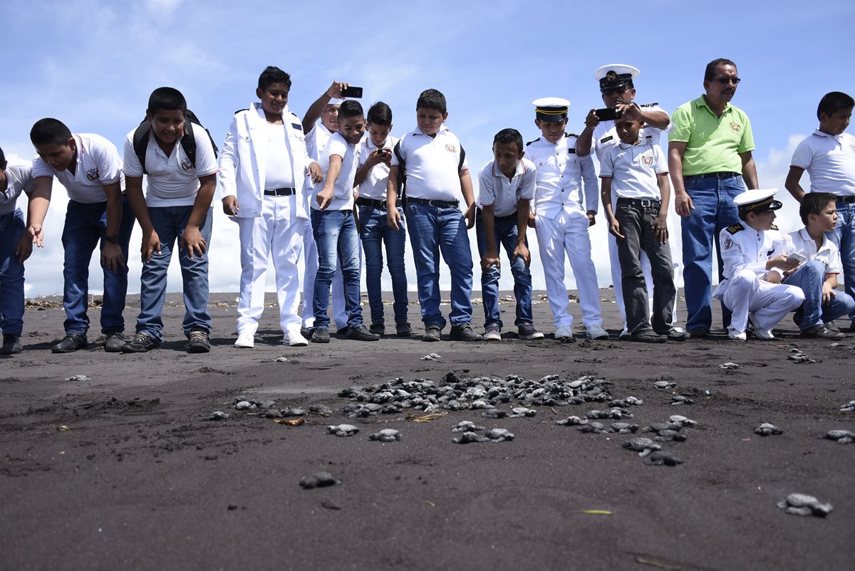
{"label": "white polo shirt on the stooping boy wearing a black backpack", "polygon": [[[125,138],[125,173],[127,176],[142,177],[143,166],[139,164],[137,153],[133,150],[133,129]],[[149,144],[145,149],[145,170],[148,171],[145,189],[145,203],[150,207],[192,206],[196,202],[199,190],[199,177],[215,174],[216,164],[214,148],[204,127],[193,125],[193,138],[196,138],[196,168],[187,158],[181,141],[176,140],[169,156],[157,144],[154,130],[149,132]]]}

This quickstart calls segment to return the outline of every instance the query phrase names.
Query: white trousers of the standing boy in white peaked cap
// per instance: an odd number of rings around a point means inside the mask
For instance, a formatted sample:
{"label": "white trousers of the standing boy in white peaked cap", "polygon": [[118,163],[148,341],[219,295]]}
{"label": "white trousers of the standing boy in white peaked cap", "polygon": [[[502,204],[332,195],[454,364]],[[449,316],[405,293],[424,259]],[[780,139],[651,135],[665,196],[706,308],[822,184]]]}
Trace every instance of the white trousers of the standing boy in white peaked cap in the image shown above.
{"label": "white trousers of the standing boy in white peaked cap", "polygon": [[546,281],[546,296],[555,327],[573,325],[573,315],[567,312],[569,300],[564,285],[564,254],[579,291],[582,324],[585,327],[600,325],[603,319],[599,310],[597,270],[591,259],[591,238],[588,235],[587,215],[582,212],[568,214],[562,211],[553,219],[537,216],[534,222],[540,249],[540,262]]}

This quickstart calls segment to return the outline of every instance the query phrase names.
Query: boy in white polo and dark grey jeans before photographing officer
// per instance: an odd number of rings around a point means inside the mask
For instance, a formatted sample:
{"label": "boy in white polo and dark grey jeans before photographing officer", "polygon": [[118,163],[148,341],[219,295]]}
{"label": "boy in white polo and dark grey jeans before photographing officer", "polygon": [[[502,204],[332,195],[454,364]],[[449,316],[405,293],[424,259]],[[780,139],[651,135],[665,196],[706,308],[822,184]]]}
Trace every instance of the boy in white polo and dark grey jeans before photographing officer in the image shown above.
{"label": "boy in white polo and dark grey jeans before photographing officer", "polygon": [[[669,337],[683,340],[687,333],[670,325],[676,288],[668,245],[668,162],[658,144],[640,141],[641,121],[618,119],[615,128],[621,143],[603,153],[600,193],[609,232],[617,238],[630,339],[642,343],[663,343]],[[617,196],[614,210],[613,195]],[[653,277],[652,320],[641,269],[642,251],[650,260]]]}

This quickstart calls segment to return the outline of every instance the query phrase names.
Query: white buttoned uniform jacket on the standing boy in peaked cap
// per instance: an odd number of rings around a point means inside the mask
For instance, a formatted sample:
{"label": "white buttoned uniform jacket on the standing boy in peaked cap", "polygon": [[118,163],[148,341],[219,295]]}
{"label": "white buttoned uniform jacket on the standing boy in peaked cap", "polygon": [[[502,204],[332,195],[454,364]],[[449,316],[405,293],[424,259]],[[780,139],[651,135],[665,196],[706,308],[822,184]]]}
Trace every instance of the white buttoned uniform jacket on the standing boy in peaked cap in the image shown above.
{"label": "white buttoned uniform jacket on the standing boy in peaked cap", "polygon": [[[526,158],[534,162],[537,187],[534,209],[550,220],[560,212],[598,211],[599,186],[591,156],[576,156],[576,136],[565,134],[557,143],[540,137],[526,145]],[[584,207],[582,190],[584,183]]]}

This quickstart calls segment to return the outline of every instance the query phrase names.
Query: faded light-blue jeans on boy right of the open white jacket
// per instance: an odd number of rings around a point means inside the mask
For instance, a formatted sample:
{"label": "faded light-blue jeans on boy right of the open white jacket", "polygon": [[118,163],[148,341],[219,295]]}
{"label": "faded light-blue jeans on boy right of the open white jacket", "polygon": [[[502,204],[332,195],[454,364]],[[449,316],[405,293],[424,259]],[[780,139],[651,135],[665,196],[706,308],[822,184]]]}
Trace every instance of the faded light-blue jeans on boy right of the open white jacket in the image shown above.
{"label": "faded light-blue jeans on boy right of the open white jacket", "polygon": [[359,305],[359,234],[353,210],[312,209],[312,233],[318,248],[318,271],[312,312],[315,327],[329,327],[329,288],[333,284],[336,258],[341,262],[345,285],[347,326],[363,324],[363,309]]}

